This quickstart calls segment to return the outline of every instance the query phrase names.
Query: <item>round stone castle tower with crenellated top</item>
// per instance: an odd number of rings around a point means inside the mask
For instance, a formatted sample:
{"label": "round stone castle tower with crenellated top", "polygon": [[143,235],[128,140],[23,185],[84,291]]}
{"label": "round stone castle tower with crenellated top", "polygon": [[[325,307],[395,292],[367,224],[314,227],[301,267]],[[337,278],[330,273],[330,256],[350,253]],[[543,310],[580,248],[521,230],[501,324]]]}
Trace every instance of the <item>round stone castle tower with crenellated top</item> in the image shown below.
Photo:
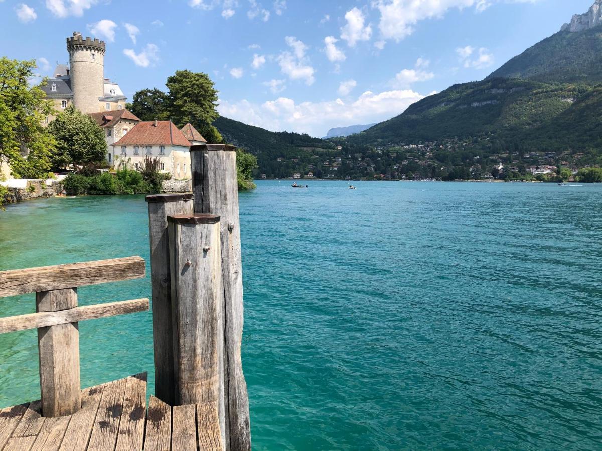
{"label": "round stone castle tower with crenellated top", "polygon": [[79,31],[67,38],[73,105],[85,113],[101,111],[105,93],[105,41],[82,38]]}

